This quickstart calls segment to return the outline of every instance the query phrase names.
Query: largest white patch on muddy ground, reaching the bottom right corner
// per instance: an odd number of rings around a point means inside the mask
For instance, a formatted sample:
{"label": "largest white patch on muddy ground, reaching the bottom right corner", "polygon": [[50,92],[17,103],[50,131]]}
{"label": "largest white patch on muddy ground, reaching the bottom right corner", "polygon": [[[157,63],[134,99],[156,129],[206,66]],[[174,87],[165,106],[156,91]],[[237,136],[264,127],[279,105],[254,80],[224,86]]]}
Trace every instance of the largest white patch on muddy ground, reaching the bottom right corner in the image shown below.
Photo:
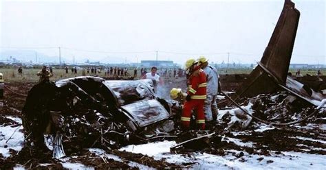
{"label": "largest white patch on muddy ground, reaching the bottom right corner", "polygon": [[[239,141],[235,140],[237,143]],[[187,168],[191,169],[325,169],[326,156],[317,154],[304,154],[297,152],[282,152],[282,154],[273,154],[272,156],[263,156],[248,154],[243,151],[243,156],[237,158],[234,154],[241,151],[228,150],[226,156],[217,156],[212,154],[173,154],[169,152],[174,141],[163,141],[157,143],[148,143],[144,145],[129,145],[120,150],[131,151],[137,154],[153,156],[155,160],[166,160],[169,163],[182,165],[190,163]],[[240,145],[242,145],[241,143]],[[248,143],[244,143],[248,144]],[[164,149],[164,147],[166,147]],[[232,154],[233,153],[233,154]],[[262,160],[259,160],[262,158]]]}

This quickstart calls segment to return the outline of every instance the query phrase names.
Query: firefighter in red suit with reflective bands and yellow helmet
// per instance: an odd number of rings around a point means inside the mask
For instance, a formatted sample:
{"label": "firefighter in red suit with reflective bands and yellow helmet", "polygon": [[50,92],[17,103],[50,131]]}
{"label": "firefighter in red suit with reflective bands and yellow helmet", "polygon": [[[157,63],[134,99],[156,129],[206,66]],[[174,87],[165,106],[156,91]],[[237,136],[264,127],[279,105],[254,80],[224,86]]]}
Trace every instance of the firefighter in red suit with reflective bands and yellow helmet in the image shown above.
{"label": "firefighter in red suit with reflective bands and yellow helmet", "polygon": [[186,61],[185,69],[187,76],[187,96],[184,103],[181,122],[184,130],[188,130],[191,122],[191,110],[195,110],[196,123],[200,130],[205,129],[204,101],[206,99],[206,74],[197,66],[194,59]]}

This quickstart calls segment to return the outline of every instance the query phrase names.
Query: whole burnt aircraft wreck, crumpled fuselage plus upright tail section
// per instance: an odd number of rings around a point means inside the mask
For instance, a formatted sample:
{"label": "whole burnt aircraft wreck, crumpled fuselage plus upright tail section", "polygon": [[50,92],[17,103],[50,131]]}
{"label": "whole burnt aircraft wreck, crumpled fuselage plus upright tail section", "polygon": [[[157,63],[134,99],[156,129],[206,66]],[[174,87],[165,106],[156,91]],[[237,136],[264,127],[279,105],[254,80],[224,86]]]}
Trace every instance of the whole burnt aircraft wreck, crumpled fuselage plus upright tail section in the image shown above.
{"label": "whole burnt aircraft wreck, crumpled fuselage plus upright tail section", "polygon": [[[228,109],[238,107],[228,114],[245,117],[242,127],[252,120],[272,125],[298,123],[304,119],[293,121],[292,113],[315,114],[325,104],[325,95],[287,77],[299,16],[294,3],[285,0],[261,62],[235,95],[219,101],[221,105],[232,106]],[[104,80],[90,76],[36,84],[23,108],[25,138],[41,148],[52,141],[53,145],[47,148],[52,147],[54,158],[85,147],[115,149],[129,143],[175,138],[180,132],[182,106],[157,97],[153,84],[151,80]],[[241,108],[238,103],[248,107]],[[219,119],[223,117],[219,115]],[[276,122],[280,117],[284,119]],[[44,138],[44,134],[50,136]],[[171,149],[202,138],[216,139],[217,134],[206,132],[204,136],[191,137],[195,138]]]}

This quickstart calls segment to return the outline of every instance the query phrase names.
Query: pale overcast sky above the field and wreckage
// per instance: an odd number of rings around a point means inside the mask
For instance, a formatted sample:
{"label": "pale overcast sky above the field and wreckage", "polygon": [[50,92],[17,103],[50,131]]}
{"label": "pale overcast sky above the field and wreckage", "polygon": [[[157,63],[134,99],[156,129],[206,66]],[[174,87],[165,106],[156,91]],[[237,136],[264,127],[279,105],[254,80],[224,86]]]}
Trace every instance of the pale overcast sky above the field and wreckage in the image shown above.
{"label": "pale overcast sky above the field and wreckage", "polygon": [[[326,64],[325,1],[293,1],[301,18],[292,63]],[[61,55],[67,62],[72,56],[140,62],[155,60],[158,51],[158,60],[178,63],[201,54],[227,62],[228,52],[231,63],[253,63],[268,44],[283,1],[1,0],[0,5],[1,47],[65,47]],[[36,51],[58,56],[57,48]]]}

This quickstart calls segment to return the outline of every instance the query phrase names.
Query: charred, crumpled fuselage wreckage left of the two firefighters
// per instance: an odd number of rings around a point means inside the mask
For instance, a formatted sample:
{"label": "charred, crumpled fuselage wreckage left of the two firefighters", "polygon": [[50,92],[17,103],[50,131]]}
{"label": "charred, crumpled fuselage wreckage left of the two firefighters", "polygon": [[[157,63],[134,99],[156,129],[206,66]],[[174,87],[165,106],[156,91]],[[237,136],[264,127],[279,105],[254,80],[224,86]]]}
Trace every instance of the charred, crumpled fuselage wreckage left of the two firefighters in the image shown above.
{"label": "charred, crumpled fuselage wreckage left of the two firefighters", "polygon": [[56,134],[56,158],[64,155],[68,143],[78,143],[74,149],[117,148],[160,135],[169,138],[166,134],[175,129],[176,121],[172,108],[180,107],[156,97],[153,89],[152,80],[106,81],[90,76],[43,82],[28,94],[23,125],[37,146],[44,144],[43,134]]}

